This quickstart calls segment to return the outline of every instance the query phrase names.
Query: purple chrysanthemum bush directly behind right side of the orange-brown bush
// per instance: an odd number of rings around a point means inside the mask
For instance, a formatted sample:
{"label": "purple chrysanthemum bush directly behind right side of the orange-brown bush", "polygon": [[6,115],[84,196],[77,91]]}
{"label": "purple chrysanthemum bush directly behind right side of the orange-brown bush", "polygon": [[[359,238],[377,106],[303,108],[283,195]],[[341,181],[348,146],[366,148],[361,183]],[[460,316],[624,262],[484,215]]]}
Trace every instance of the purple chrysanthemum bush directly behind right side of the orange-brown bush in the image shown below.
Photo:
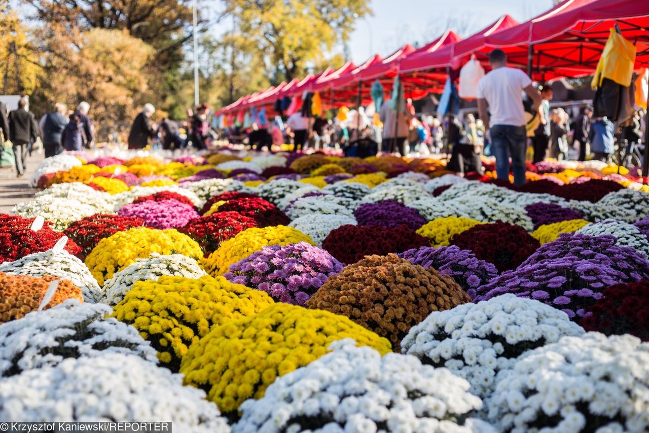
{"label": "purple chrysanthemum bush directly behind right side of the orange-brown bush", "polygon": [[442,275],[453,278],[464,290],[476,289],[498,275],[493,264],[478,260],[470,250],[450,247],[421,247],[398,254],[415,265],[433,267]]}

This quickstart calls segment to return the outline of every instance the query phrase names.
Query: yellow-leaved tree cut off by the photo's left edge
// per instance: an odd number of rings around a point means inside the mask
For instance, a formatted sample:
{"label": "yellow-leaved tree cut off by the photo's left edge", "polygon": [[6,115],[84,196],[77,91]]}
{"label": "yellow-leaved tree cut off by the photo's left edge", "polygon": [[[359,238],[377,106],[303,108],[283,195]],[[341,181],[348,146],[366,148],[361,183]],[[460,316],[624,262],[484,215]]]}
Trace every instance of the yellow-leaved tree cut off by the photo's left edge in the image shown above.
{"label": "yellow-leaved tree cut off by the photo's left edge", "polygon": [[40,65],[16,12],[0,10],[0,86],[4,95],[25,95],[36,88]]}

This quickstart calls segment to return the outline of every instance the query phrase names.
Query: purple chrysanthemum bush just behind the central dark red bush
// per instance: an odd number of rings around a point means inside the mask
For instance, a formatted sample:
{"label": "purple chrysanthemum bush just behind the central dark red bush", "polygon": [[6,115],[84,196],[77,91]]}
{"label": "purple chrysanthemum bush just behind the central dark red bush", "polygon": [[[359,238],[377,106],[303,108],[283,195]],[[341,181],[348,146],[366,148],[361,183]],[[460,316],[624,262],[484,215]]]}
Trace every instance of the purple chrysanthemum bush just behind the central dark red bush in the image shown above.
{"label": "purple chrysanthemum bush just behind the central dark red bush", "polygon": [[405,224],[417,230],[426,223],[417,210],[393,200],[361,204],[354,211],[354,217],[359,225],[380,225],[389,229]]}

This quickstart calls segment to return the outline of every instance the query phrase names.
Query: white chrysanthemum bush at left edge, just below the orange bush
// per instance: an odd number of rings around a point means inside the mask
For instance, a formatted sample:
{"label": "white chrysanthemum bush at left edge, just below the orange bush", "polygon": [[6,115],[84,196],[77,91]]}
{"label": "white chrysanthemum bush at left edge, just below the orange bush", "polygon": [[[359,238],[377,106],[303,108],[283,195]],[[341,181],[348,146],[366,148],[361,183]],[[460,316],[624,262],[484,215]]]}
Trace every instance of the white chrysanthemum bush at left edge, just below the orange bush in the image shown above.
{"label": "white chrysanthemum bush at left edge, just below the orange bush", "polygon": [[136,328],[112,317],[103,304],[68,299],[0,325],[0,377],[56,365],[66,358],[133,354],[157,362],[156,351]]}

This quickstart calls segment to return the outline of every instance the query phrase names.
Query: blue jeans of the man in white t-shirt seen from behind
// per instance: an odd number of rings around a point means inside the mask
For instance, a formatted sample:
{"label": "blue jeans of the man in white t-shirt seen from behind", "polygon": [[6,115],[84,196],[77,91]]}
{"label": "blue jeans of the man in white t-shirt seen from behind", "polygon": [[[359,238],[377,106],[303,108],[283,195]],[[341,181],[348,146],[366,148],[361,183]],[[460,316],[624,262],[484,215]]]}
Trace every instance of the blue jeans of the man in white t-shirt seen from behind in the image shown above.
{"label": "blue jeans of the man in white t-shirt seen from behind", "polygon": [[509,156],[514,172],[514,184],[525,183],[525,152],[527,135],[525,127],[493,125],[491,127],[491,153],[496,157],[498,179],[509,179]]}

